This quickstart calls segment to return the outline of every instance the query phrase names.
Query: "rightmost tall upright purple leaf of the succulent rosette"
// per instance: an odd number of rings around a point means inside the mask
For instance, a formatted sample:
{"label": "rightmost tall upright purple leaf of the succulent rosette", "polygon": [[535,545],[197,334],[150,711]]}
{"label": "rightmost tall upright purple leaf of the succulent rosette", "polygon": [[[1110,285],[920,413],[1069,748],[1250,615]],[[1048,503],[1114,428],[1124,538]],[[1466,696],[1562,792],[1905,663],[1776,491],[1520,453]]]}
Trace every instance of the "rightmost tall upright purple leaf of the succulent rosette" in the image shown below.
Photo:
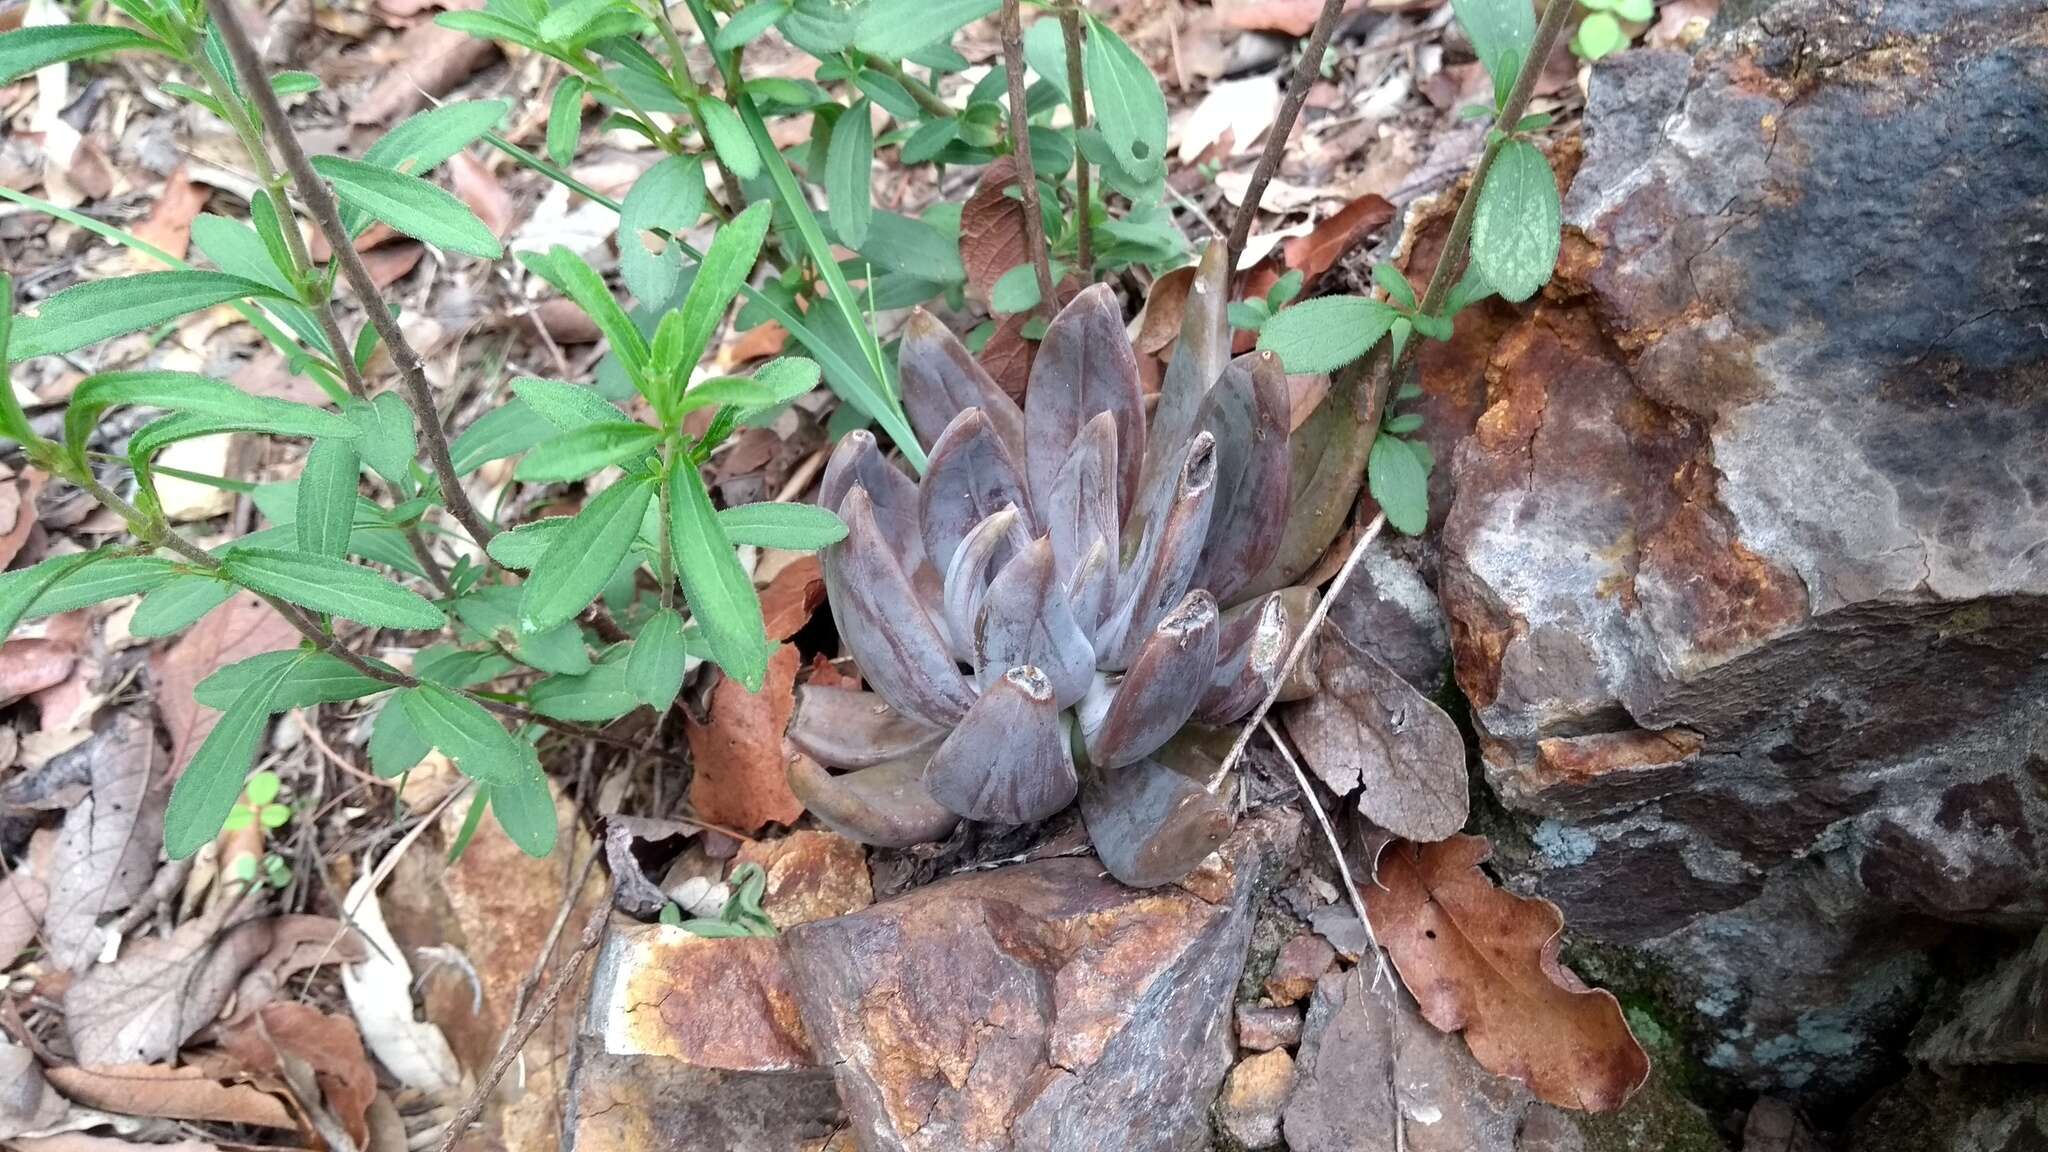
{"label": "rightmost tall upright purple leaf of the succulent rosette", "polygon": [[1217,439],[1217,502],[1194,582],[1231,603],[1280,551],[1288,500],[1288,392],[1280,357],[1249,353],[1223,369],[1198,418]]}

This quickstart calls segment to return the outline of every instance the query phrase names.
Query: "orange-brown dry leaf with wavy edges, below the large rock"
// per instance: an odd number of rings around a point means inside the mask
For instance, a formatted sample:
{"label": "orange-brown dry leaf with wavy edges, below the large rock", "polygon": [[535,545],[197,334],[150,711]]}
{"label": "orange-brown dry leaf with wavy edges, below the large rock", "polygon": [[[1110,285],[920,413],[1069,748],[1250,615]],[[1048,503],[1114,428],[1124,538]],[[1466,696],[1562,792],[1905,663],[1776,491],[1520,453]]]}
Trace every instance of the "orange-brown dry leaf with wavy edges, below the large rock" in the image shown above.
{"label": "orange-brown dry leaf with wavy edges, below the large rock", "polygon": [[1556,906],[1479,871],[1491,853],[1485,836],[1391,845],[1378,883],[1362,886],[1372,927],[1423,1019],[1462,1031],[1481,1068],[1559,1107],[1614,1111],[1651,1060],[1614,994],[1559,961]]}

